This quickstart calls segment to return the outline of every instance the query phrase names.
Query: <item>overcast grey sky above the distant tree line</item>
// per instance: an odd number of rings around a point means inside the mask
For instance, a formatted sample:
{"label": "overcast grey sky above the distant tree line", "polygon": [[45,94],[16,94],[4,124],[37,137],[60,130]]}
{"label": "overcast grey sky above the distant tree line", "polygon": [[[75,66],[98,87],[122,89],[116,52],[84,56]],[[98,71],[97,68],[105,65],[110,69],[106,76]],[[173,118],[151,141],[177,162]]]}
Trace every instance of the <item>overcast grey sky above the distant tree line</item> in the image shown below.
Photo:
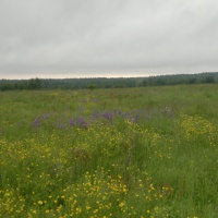
{"label": "overcast grey sky above the distant tree line", "polygon": [[218,72],[217,0],[0,0],[0,78]]}

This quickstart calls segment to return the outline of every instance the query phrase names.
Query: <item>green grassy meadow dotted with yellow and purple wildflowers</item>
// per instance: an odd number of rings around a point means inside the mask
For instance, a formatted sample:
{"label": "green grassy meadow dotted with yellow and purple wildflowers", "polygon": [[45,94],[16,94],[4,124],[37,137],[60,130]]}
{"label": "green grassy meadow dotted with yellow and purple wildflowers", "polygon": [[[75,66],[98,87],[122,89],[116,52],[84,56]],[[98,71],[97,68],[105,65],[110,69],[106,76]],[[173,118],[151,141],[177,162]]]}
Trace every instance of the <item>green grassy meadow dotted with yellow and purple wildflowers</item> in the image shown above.
{"label": "green grassy meadow dotted with yellow and purple wildflowers", "polygon": [[218,86],[0,93],[0,217],[218,217]]}

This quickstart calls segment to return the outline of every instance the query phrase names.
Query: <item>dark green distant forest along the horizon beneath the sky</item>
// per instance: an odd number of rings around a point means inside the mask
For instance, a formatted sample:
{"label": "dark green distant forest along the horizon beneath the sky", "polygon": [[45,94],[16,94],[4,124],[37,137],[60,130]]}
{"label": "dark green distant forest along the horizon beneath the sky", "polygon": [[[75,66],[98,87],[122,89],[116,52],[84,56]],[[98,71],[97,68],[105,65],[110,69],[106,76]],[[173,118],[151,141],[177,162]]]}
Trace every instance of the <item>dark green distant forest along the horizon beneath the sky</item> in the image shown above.
{"label": "dark green distant forest along the horizon beneath the sky", "polygon": [[0,80],[0,90],[125,88],[205,83],[218,83],[218,72],[119,78],[90,77]]}

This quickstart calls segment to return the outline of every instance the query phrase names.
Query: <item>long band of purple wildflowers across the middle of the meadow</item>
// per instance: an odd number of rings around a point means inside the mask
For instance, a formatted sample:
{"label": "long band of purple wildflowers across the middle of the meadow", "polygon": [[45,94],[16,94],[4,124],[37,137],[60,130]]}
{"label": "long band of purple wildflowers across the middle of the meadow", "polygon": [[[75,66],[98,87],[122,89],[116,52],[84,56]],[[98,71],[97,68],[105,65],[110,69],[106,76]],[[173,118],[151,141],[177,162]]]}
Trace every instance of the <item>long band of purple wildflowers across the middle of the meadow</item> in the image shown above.
{"label": "long band of purple wildflowers across the middle of the meadow", "polygon": [[[56,113],[57,114],[57,113]],[[55,116],[56,116],[55,114]],[[51,113],[44,113],[40,117],[36,118],[33,121],[33,128],[39,128],[41,125],[41,122],[46,122],[52,114]],[[144,122],[146,120],[150,119],[162,119],[162,118],[174,118],[174,112],[172,108],[170,107],[162,107],[158,109],[133,109],[132,111],[123,111],[123,110],[111,110],[111,111],[96,111],[89,117],[73,117],[70,118],[68,114],[57,114],[59,116],[59,122],[52,122],[52,125],[55,125],[58,129],[66,129],[69,126],[72,128],[82,128],[87,129],[92,124],[108,124],[119,122],[119,120],[129,120],[131,122],[137,123],[137,122]],[[48,122],[48,124],[51,124]],[[21,124],[22,125],[22,124]]]}

